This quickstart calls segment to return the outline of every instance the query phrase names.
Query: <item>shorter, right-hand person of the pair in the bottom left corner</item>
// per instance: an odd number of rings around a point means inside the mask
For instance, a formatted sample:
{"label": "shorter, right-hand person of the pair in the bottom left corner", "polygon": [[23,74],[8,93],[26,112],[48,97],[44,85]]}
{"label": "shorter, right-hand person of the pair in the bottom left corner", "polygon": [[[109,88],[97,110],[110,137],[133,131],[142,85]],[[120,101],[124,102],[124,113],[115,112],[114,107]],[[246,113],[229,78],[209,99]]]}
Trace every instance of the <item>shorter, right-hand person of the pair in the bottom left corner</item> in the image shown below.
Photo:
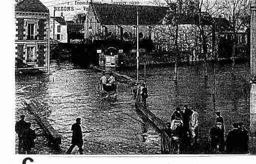
{"label": "shorter, right-hand person of the pair in the bottom left corner", "polygon": [[34,148],[35,146],[34,139],[36,138],[36,134],[34,130],[32,130],[30,127],[31,127],[31,123],[30,122],[26,123],[26,128],[22,133],[22,139],[23,139],[22,148],[23,148],[23,153],[25,154],[30,154],[31,149]]}

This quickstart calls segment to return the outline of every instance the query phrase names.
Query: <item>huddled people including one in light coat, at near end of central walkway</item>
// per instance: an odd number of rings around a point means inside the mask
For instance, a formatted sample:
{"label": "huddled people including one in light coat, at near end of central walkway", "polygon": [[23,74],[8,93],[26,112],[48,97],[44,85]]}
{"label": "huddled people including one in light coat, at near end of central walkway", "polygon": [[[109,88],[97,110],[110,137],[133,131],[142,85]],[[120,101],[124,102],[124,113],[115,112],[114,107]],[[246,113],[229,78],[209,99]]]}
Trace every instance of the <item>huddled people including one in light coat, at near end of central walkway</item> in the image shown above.
{"label": "huddled people including one in light coat, at near end of central walkway", "polygon": [[188,105],[184,105],[183,108],[175,109],[164,131],[171,139],[170,142],[178,145],[178,152],[190,153],[198,141],[198,126],[198,112],[195,108],[189,109]]}

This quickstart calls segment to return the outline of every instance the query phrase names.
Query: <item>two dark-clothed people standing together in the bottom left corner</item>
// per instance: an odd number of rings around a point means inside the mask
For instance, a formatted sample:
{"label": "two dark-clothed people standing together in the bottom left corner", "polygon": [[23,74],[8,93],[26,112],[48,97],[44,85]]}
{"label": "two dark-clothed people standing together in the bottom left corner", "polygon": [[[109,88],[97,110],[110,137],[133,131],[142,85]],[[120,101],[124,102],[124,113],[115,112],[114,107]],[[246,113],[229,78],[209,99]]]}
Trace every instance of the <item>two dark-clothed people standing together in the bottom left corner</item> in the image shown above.
{"label": "two dark-clothed people standing together in the bottom left corner", "polygon": [[15,124],[15,132],[18,135],[18,153],[30,154],[31,149],[35,146],[35,131],[31,129],[31,123],[26,122],[25,115],[20,115],[20,120]]}

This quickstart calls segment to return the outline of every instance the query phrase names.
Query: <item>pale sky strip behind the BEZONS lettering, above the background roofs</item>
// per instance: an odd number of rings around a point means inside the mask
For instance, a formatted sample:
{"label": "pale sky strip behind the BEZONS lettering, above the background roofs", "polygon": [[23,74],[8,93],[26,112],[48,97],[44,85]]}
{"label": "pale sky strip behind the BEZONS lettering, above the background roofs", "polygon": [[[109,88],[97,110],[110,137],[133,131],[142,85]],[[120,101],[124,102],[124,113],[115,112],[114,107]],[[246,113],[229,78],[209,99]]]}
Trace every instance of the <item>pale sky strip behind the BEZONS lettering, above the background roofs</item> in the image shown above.
{"label": "pale sky strip behind the BEZONS lettering, above the background roofs", "polygon": [[[59,7],[59,10],[55,11],[55,16],[60,16],[60,13],[63,12],[65,20],[72,20],[73,16],[79,12],[86,12],[88,5],[84,4],[90,2],[90,0],[40,0],[47,8],[50,10],[50,15],[53,16],[54,7]],[[126,2],[126,4],[132,4],[136,2],[140,5],[149,5],[151,0],[93,0],[93,2],[100,3],[112,3],[113,2]],[[68,2],[68,3],[67,3]],[[82,4],[78,4],[82,3]],[[62,7],[62,11],[61,11]],[[67,7],[70,7],[70,10],[67,11]],[[57,8],[55,8],[57,9]]]}

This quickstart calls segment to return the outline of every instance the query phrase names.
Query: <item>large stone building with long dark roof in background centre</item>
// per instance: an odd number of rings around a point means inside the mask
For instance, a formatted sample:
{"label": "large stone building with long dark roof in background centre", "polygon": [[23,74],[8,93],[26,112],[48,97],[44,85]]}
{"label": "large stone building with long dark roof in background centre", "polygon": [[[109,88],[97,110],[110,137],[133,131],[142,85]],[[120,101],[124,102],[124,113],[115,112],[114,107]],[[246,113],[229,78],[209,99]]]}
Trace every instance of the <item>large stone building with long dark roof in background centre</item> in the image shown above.
{"label": "large stone building with long dark roof in background centre", "polygon": [[84,38],[136,40],[137,10],[139,37],[151,39],[152,26],[162,24],[167,7],[92,3],[84,23]]}

